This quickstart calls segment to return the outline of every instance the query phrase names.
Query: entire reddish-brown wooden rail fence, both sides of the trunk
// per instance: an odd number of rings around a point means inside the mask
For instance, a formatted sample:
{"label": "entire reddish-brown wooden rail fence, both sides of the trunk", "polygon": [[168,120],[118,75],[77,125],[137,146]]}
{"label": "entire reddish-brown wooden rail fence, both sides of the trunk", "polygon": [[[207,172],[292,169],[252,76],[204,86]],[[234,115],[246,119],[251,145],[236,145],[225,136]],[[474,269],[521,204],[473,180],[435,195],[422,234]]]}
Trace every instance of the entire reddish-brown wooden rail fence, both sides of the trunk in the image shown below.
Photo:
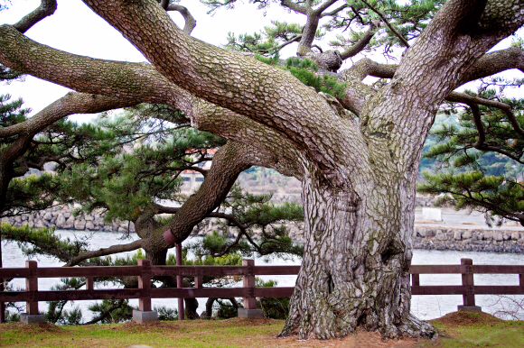
{"label": "entire reddish-brown wooden rail fence, both sides of the trunk", "polygon": [[[256,298],[289,297],[294,287],[257,288],[255,277],[262,275],[296,275],[300,266],[256,266],[244,260],[242,266],[151,266],[138,260],[137,266],[112,267],[37,267],[36,261],[25,261],[25,268],[0,269],[0,279],[24,278],[25,291],[0,292],[0,303],[26,302],[28,316],[38,315],[39,301],[94,300],[138,298],[140,311],[151,311],[152,298],[243,298],[244,308],[255,309]],[[524,266],[473,265],[462,259],[460,265],[413,265],[413,295],[463,295],[463,307],[475,307],[474,295],[524,294]],[[462,274],[462,285],[420,285],[420,274]],[[519,274],[518,286],[475,286],[473,274]],[[202,276],[242,276],[241,288],[203,288]],[[95,289],[98,277],[138,277],[138,288]],[[194,288],[151,288],[152,277],[194,277]],[[86,278],[82,290],[38,290],[39,278]],[[182,309],[183,311],[183,309]],[[180,309],[179,309],[180,312]],[[182,319],[182,316],[180,316]],[[3,318],[2,318],[3,319]]]}

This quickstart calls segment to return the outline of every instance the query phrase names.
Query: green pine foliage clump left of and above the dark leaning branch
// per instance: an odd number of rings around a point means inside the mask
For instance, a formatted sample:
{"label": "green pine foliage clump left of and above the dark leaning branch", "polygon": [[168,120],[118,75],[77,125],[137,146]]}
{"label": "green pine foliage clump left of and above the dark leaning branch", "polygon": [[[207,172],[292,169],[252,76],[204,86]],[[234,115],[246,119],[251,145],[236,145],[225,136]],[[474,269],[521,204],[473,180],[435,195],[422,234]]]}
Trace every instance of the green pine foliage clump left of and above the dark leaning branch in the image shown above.
{"label": "green pine foliage clump left of and above the dark leaning branch", "polygon": [[[98,153],[96,166],[83,162],[61,172],[58,179],[62,200],[80,203],[83,212],[103,209],[108,221],[134,220],[144,212],[153,212],[157,200],[182,203],[185,198],[179,192],[182,170],[211,160],[206,150],[224,143],[209,133],[188,128],[154,132],[154,136],[162,133],[164,142],[150,142],[139,136],[145,131],[136,129],[137,124],[129,122],[129,117],[99,124],[103,130],[110,129],[121,135],[112,138],[112,151]],[[107,145],[106,140],[101,139],[89,146]]]}

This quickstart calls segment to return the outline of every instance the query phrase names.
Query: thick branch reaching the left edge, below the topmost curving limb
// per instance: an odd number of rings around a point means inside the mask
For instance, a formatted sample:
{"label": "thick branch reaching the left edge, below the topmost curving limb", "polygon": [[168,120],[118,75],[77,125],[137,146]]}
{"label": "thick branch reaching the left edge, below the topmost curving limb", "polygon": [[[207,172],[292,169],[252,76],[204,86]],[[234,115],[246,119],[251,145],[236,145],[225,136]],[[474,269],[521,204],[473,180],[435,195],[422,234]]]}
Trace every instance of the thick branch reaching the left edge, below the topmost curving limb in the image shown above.
{"label": "thick branch reaching the left edge, below the topmost curving limb", "polygon": [[95,60],[55,50],[23,36],[11,25],[0,26],[0,61],[11,69],[78,92],[139,98],[151,104],[170,100],[182,112],[192,112],[192,96],[149,64]]}

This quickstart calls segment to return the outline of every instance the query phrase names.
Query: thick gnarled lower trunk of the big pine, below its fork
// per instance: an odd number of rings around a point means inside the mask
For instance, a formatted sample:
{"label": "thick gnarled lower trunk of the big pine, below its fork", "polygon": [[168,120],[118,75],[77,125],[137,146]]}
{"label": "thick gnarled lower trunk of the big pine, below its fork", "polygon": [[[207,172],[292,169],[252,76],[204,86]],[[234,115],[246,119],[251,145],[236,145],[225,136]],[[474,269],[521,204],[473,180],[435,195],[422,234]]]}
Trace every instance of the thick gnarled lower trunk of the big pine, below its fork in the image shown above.
{"label": "thick gnarled lower trunk of the big pine, below its fork", "polygon": [[372,178],[353,176],[352,189],[304,180],[304,259],[280,335],[435,333],[409,313],[413,180]]}

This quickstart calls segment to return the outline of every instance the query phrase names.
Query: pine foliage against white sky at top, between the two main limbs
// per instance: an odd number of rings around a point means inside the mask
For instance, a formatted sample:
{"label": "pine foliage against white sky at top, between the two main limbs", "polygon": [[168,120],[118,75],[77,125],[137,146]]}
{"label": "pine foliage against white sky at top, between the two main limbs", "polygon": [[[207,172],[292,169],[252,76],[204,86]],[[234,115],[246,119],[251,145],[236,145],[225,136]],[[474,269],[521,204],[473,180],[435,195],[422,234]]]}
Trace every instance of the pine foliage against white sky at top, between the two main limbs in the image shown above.
{"label": "pine foliage against white sky at top, between the two main limbs", "polygon": [[[220,8],[232,9],[237,0],[201,0],[201,3],[210,7],[210,13]],[[304,1],[293,0],[295,5],[304,5]],[[254,1],[259,9],[266,9],[272,1]],[[312,1],[314,6],[321,4],[321,1]],[[369,0],[371,6],[377,10],[381,16],[386,18],[388,23],[395,28],[407,41],[416,39],[424,31],[426,25],[434,17],[444,1],[435,0],[410,0],[398,2],[397,0]],[[284,3],[281,3],[286,7]],[[327,32],[342,32],[336,35],[336,40],[329,41],[332,48],[345,50],[355,45],[368,32],[372,22],[379,22],[380,27],[377,33],[368,43],[363,52],[372,52],[381,49],[382,54],[390,57],[393,50],[397,47],[404,47],[395,32],[392,32],[377,12],[368,8],[360,0],[348,0],[347,7],[342,8],[338,13],[324,17],[328,21],[323,23],[315,34],[314,43],[319,46]],[[338,6],[338,5],[336,5]],[[289,10],[289,8],[287,7]],[[328,9],[330,12],[333,8]],[[305,18],[304,18],[305,21]],[[273,55],[277,50],[285,46],[286,42],[293,41],[294,37],[302,33],[304,23],[286,23],[273,21],[271,26],[264,28],[262,32],[252,35],[244,34],[235,37],[233,33],[228,35],[228,43],[225,47],[229,50],[244,50],[258,52],[260,54]]]}

